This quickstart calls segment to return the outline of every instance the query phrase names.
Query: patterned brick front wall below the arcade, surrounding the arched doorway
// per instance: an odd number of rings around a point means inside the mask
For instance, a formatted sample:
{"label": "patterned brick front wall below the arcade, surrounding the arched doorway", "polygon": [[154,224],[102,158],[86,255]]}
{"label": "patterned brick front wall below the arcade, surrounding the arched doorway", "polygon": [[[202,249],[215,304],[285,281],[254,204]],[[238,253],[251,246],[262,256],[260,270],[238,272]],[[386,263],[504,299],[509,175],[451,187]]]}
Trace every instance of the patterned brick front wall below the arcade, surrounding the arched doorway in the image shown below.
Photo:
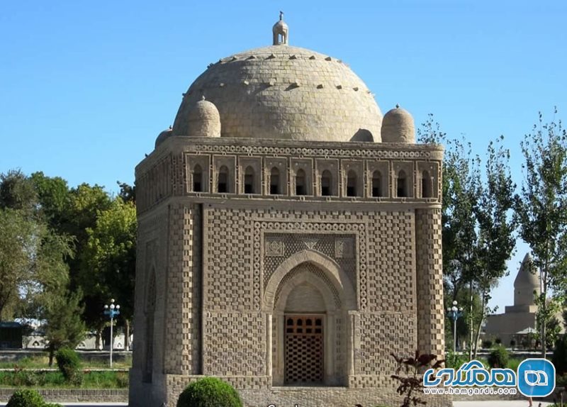
{"label": "patterned brick front wall below the arcade, surrounding the arched doorway", "polygon": [[[393,372],[393,359],[383,355],[412,354],[417,346],[418,328],[420,335],[427,335],[422,330],[425,324],[418,323],[418,312],[421,321],[436,320],[435,311],[426,312],[429,303],[416,306],[416,290],[422,290],[418,292],[419,301],[429,294],[424,294],[425,286],[415,280],[416,267],[424,269],[425,262],[418,258],[418,266],[413,255],[415,247],[418,253],[429,250],[433,257],[437,252],[440,242],[432,238],[437,233],[434,211],[420,211],[420,223],[416,225],[414,211],[273,208],[266,211],[204,205],[201,214],[198,208],[198,205],[172,205],[170,209],[171,274],[167,301],[168,304],[181,303],[182,312],[179,315],[171,310],[167,314],[166,338],[170,349],[165,353],[167,372],[203,372],[230,377],[242,389],[264,389],[264,383],[269,386],[271,379],[267,382],[262,379],[267,369],[266,347],[271,346],[274,363],[279,344],[275,335],[271,336],[270,344],[265,343],[269,338],[267,318],[260,312],[264,287],[283,261],[294,253],[308,250],[337,262],[349,279],[356,281],[357,308],[352,310],[356,312],[352,336],[347,335],[349,325],[344,316],[333,317],[334,323],[330,325],[335,330],[331,340],[337,366],[336,383],[353,389],[389,389],[395,385],[389,374],[382,373]],[[203,266],[198,257],[203,249],[201,234],[206,245]],[[420,245],[420,239],[431,242]],[[173,267],[174,264],[177,265]],[[439,273],[435,274],[440,263],[428,261],[427,264],[432,267],[432,273],[427,274],[427,284],[440,283],[440,279],[437,281]],[[198,281],[198,275],[192,274],[192,270],[200,267],[206,274],[203,277],[204,308],[199,318],[194,304],[201,301],[198,291],[192,291],[191,287]],[[312,272],[326,281],[325,273],[315,269],[313,264],[296,267],[283,277],[279,289],[297,272]],[[330,281],[325,284],[332,289]],[[179,290],[178,286],[184,288]],[[277,303],[279,290],[275,296]],[[341,294],[337,291],[333,296],[335,306],[342,309]],[[442,300],[442,292],[439,298]],[[440,315],[442,323],[442,311]],[[201,318],[202,347],[198,341]],[[269,328],[272,334],[276,332],[274,324]],[[442,340],[442,328],[432,329],[435,330],[432,335],[439,330]],[[354,345],[349,345],[353,338]],[[178,345],[173,351],[173,344],[180,342],[181,347]],[[347,350],[351,346],[354,347],[355,374],[347,377]],[[201,357],[202,367],[198,362]],[[179,377],[187,376],[181,373]],[[167,392],[174,391],[168,388]]]}

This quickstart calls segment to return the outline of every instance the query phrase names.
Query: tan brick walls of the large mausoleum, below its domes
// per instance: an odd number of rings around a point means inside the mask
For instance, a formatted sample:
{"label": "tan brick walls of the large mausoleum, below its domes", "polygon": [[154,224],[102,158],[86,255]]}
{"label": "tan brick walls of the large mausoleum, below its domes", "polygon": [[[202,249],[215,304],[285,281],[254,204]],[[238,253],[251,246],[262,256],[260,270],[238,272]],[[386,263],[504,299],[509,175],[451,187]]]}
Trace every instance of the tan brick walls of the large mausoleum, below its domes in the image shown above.
{"label": "tan brick walls of the large mausoleum, below its domes", "polygon": [[[147,200],[138,214],[135,330],[145,332],[140,310],[147,308],[146,281],[155,270],[155,348],[152,382],[142,383],[150,354],[144,338],[135,344],[130,404],[175,403],[197,374],[225,377],[249,406],[272,400],[286,405],[297,398],[331,406],[399,400],[389,354],[412,355],[418,344],[436,353],[443,347],[440,201],[437,192],[423,199],[419,189],[421,167],[440,163],[441,155],[439,147],[418,145],[164,142],[137,167],[137,177],[151,172],[151,184],[171,185],[140,188]],[[203,192],[192,191],[196,164],[203,169]],[[230,194],[215,193],[221,164],[230,164]],[[259,192],[250,196],[242,184],[248,165],[255,166]],[[398,199],[400,165],[410,177],[410,191]],[[269,194],[274,166],[281,168],[283,195]],[[293,194],[299,166],[305,167],[312,196]],[[386,196],[371,194],[375,167],[383,170]],[[323,169],[332,170],[337,196],[321,196]],[[358,174],[359,196],[345,191],[350,170]],[[286,269],[293,259],[301,260],[295,267],[313,257],[322,263]],[[338,271],[333,274],[329,265]],[[332,350],[325,356],[335,366],[326,360],[327,387],[271,387],[279,383],[276,368],[282,370],[274,326],[288,311],[281,287],[289,288],[286,281],[302,273],[318,279],[315,286],[329,294],[325,343]],[[430,403],[444,405],[442,398]]]}

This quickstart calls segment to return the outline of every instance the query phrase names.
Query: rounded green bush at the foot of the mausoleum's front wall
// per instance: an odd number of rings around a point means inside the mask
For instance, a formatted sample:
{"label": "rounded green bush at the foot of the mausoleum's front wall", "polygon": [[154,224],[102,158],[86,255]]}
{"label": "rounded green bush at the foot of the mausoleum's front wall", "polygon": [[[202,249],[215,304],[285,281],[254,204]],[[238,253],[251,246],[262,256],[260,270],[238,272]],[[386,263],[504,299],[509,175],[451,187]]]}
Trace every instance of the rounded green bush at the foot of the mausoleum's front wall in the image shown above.
{"label": "rounded green bush at the foot of the mausoleum's front wall", "polygon": [[179,395],[177,407],[242,407],[234,387],[216,377],[193,381]]}

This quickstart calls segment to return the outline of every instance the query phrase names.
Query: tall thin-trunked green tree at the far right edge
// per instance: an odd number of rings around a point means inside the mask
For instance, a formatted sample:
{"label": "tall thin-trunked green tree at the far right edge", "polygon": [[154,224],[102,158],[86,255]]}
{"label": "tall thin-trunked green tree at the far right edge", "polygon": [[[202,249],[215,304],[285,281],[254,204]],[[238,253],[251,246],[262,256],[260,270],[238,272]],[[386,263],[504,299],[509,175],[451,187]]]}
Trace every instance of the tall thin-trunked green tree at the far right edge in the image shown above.
{"label": "tall thin-trunked green tree at the far right edge", "polygon": [[[520,236],[540,272],[540,337],[546,343],[549,289],[564,295],[567,285],[567,132],[561,121],[544,123],[539,113],[539,123],[522,141],[522,152],[524,179],[516,211]],[[541,356],[546,357],[545,346]]]}

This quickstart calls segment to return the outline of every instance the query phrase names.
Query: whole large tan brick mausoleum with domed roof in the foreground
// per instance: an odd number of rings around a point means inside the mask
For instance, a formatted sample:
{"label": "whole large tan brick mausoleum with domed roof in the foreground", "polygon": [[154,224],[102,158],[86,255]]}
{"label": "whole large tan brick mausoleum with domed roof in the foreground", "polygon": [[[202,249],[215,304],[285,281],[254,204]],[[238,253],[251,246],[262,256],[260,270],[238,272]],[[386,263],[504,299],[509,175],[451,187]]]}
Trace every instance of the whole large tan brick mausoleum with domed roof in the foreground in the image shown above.
{"label": "whole large tan brick mausoleum with domed roof in the foreground", "polygon": [[273,36],[209,65],[136,167],[131,406],[203,375],[247,406],[393,404],[391,353],[443,355],[442,147]]}

